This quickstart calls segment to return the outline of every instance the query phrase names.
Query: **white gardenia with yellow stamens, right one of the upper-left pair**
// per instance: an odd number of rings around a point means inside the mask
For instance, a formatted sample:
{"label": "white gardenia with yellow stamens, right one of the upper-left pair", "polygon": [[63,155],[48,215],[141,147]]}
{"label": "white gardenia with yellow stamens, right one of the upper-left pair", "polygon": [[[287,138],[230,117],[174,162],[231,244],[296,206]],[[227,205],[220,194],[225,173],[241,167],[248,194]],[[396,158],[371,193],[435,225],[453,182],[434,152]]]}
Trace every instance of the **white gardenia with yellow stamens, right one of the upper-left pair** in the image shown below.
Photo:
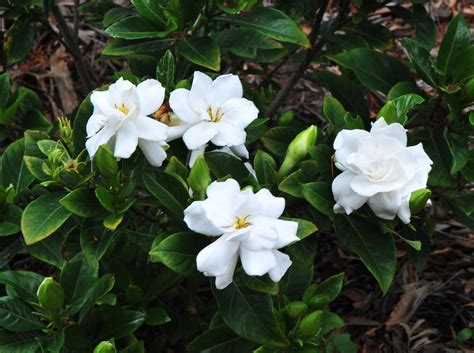
{"label": "white gardenia with yellow stamens, right one of the upper-left pair", "polygon": [[258,109],[242,96],[238,76],[222,75],[213,81],[199,71],[194,73],[191,90],[178,88],[171,92],[170,107],[181,120],[188,149],[199,155],[212,142],[235,147],[241,157],[248,158],[245,128],[257,119]]}

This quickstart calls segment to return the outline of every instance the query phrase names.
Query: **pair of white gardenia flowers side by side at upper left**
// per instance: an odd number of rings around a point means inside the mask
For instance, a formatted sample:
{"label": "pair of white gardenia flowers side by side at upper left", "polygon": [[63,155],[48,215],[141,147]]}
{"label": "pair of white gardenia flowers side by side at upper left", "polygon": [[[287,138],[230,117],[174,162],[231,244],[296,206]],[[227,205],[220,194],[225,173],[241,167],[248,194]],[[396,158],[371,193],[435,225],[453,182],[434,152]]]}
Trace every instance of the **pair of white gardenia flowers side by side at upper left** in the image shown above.
{"label": "pair of white gardenia flowers side by side at upper left", "polygon": [[245,128],[257,118],[258,109],[242,96],[236,75],[213,81],[195,72],[191,90],[171,92],[173,112],[167,113],[160,109],[165,98],[160,82],[146,80],[135,86],[120,78],[106,91],[91,94],[94,112],[87,123],[87,150],[92,158],[100,145],[108,144],[115,157],[129,158],[139,146],[148,162],[159,167],[166,159],[167,142],[182,137],[192,151],[190,166],[209,142],[248,158]]}

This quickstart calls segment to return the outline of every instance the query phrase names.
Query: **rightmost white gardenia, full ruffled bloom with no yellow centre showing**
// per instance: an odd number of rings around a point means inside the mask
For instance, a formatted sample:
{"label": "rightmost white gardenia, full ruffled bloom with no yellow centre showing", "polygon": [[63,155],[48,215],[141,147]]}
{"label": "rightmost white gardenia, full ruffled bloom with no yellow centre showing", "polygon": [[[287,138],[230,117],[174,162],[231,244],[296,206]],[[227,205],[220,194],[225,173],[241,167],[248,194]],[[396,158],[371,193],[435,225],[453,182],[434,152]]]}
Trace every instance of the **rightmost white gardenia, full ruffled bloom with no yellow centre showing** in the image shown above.
{"label": "rightmost white gardenia, full ruffled bloom with no yellow centre showing", "polygon": [[421,143],[407,147],[403,126],[380,118],[370,132],[339,132],[334,149],[342,170],[332,183],[334,212],[350,214],[367,202],[380,218],[410,222],[410,195],[426,187],[433,164]]}

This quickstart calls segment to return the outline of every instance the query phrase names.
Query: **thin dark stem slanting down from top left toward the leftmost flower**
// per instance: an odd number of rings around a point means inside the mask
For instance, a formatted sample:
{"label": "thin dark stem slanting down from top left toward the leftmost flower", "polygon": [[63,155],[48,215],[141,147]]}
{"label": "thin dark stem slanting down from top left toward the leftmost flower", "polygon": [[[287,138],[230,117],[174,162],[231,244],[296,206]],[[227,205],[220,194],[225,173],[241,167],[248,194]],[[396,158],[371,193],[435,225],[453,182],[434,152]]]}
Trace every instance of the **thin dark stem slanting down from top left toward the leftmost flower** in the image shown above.
{"label": "thin dark stem slanting down from top left toward the leftmost flower", "polygon": [[76,69],[81,79],[82,86],[87,92],[90,92],[94,89],[94,83],[92,81],[92,77],[90,73],[92,69],[89,65],[84,61],[82,56],[81,50],[79,49],[79,43],[74,39],[73,33],[71,33],[61,10],[59,9],[57,4],[52,4],[51,12],[56,18],[59,30],[64,37],[64,44],[69,52],[72,54],[74,58],[74,64],[76,65]]}

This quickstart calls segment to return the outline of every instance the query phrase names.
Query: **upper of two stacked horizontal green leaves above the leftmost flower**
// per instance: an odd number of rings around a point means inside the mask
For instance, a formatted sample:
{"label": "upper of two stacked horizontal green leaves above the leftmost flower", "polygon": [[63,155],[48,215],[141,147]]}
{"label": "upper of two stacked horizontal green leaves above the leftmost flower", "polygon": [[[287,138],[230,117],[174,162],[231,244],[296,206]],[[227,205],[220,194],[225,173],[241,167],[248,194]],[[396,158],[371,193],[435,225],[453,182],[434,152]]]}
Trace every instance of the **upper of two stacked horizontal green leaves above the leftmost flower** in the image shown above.
{"label": "upper of two stacked horizontal green leaves above the leftmost flower", "polygon": [[105,32],[111,37],[122,39],[165,38],[169,33],[142,16],[125,17],[112,24]]}

